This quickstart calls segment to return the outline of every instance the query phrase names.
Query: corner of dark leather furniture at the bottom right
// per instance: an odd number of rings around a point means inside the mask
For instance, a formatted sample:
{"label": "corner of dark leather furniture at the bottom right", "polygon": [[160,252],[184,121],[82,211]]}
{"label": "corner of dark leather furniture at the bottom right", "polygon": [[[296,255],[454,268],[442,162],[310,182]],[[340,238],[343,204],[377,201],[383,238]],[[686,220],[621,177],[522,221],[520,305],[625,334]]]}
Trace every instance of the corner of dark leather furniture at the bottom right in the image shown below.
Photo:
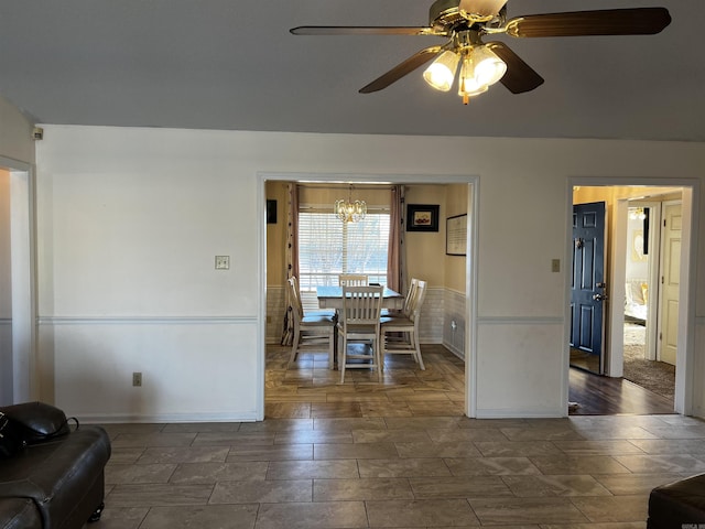
{"label": "corner of dark leather furniture at the bottom right", "polygon": [[705,527],[705,474],[661,485],[649,495],[647,529]]}

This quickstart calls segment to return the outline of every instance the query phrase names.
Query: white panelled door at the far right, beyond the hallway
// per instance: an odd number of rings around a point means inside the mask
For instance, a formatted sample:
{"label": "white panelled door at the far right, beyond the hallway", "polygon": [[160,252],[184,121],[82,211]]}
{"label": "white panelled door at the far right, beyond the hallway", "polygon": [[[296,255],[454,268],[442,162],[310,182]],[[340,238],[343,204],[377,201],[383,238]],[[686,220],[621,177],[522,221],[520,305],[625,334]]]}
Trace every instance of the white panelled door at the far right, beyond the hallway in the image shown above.
{"label": "white panelled door at the far right, beyond the hallway", "polygon": [[661,236],[661,289],[659,289],[659,350],[661,361],[675,365],[679,334],[679,288],[681,284],[681,201],[664,202]]}

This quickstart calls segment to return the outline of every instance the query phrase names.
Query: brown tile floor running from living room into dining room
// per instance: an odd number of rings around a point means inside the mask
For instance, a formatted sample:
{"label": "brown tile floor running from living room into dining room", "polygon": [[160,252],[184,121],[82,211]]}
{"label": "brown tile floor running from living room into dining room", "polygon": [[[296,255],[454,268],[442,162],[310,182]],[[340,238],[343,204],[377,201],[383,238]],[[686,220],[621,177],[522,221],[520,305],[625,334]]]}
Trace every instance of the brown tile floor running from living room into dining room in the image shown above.
{"label": "brown tile floor running from living room into dining room", "polygon": [[283,417],[107,425],[90,527],[644,528],[652,487],[705,472],[696,419],[474,420],[447,352],[424,355],[427,373],[390,363],[382,387],[365,371],[333,382],[316,356],[286,371],[285,352],[269,354],[267,409]]}

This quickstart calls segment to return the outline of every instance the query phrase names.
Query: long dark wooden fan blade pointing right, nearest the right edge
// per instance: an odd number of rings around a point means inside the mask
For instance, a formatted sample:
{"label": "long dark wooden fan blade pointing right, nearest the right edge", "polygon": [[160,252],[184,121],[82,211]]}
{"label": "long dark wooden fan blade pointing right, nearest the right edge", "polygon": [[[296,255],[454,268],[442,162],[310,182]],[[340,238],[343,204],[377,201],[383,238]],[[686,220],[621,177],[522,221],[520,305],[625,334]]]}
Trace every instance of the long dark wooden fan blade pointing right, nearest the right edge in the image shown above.
{"label": "long dark wooden fan blade pointing right, nearest the right edge", "polygon": [[507,22],[511,36],[652,35],[671,23],[665,8],[529,14]]}

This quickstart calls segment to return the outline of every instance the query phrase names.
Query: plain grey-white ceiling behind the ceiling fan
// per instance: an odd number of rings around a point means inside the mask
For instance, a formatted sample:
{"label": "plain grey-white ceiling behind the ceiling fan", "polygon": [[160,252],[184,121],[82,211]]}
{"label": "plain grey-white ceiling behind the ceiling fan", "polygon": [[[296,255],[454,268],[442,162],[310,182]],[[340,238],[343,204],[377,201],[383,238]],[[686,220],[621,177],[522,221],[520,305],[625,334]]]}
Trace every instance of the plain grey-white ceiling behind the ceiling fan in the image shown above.
{"label": "plain grey-white ceiling behind the ceiling fan", "polygon": [[[422,69],[358,89],[433,36],[294,36],[426,25],[431,0],[0,0],[0,94],[42,123],[705,141],[705,0],[509,0],[508,17],[662,6],[649,36],[501,40],[545,83],[463,106]],[[495,37],[492,37],[495,40]]]}

